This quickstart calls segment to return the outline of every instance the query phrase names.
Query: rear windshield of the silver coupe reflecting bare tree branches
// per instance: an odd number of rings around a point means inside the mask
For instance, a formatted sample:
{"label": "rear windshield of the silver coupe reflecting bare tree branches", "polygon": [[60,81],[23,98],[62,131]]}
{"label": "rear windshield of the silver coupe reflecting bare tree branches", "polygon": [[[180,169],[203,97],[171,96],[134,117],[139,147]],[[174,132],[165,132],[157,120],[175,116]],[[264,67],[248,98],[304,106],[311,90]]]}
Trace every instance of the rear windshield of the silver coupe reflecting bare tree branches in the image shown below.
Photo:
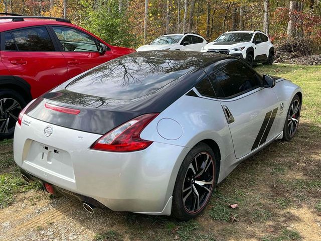
{"label": "rear windshield of the silver coupe reflecting bare tree branches", "polygon": [[168,60],[155,52],[134,53],[93,69],[71,82],[66,89],[103,98],[129,100],[156,92],[192,69],[184,64],[184,60]]}

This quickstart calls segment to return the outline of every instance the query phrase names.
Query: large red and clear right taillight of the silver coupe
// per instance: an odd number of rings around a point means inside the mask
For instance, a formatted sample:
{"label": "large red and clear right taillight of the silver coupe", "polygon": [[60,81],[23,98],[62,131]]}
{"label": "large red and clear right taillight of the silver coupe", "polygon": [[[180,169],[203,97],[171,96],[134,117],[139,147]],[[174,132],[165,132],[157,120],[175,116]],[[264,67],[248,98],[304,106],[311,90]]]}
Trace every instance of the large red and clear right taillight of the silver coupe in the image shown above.
{"label": "large red and clear right taillight of the silver coupe", "polygon": [[144,128],[158,113],[143,114],[99,138],[91,149],[110,152],[133,152],[147,148],[152,142],[139,137]]}

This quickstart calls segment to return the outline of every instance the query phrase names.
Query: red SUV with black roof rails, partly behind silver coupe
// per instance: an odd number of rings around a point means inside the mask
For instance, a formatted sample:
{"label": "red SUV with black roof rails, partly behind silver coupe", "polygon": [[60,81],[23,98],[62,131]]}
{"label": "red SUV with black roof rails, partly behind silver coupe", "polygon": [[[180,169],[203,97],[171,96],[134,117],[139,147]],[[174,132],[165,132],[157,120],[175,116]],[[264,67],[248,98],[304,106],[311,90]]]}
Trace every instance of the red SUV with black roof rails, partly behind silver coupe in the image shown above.
{"label": "red SUV with black roof rails, partly behind silver coupe", "polygon": [[12,137],[33,98],[108,60],[135,52],[107,44],[69,20],[0,17],[0,139]]}

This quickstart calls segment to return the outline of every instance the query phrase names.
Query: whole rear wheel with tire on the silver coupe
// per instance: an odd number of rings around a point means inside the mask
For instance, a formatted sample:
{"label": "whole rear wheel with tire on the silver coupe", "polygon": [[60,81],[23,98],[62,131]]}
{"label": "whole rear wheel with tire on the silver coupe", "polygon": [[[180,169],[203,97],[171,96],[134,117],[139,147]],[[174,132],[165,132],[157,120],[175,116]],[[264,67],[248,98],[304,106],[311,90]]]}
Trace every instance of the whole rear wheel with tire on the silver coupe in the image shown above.
{"label": "whole rear wheel with tire on the silver coupe", "polygon": [[216,164],[213,150],[207,144],[199,143],[184,158],[178,172],[173,192],[172,215],[181,220],[198,216],[209,202],[215,183]]}

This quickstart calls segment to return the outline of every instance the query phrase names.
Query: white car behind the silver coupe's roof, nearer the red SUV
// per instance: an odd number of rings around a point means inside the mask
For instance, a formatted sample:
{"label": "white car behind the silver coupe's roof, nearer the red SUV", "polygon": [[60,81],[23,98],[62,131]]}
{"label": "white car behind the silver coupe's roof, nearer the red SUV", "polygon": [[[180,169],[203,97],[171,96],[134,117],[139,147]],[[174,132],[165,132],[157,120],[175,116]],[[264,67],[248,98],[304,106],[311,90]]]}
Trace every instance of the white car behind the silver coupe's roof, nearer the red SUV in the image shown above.
{"label": "white car behind the silver coupe's roof, nearer the red SUV", "polygon": [[136,51],[148,50],[188,50],[201,51],[207,41],[198,34],[165,34],[148,45],[140,46]]}

